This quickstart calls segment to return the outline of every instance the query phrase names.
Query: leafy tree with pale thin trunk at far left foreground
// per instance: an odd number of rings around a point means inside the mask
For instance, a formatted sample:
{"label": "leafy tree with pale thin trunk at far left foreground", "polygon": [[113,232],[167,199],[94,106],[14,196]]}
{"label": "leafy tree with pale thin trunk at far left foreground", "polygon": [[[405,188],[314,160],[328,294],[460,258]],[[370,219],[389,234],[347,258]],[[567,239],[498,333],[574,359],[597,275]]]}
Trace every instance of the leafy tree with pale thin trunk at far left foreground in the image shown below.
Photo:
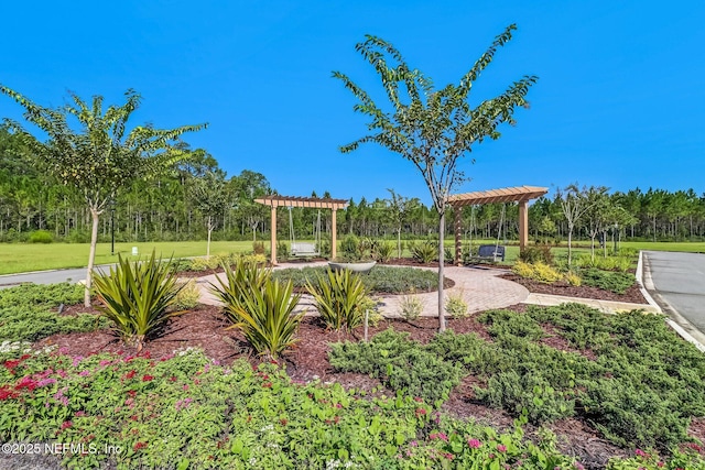
{"label": "leafy tree with pale thin trunk at far left foreground", "polygon": [[[24,108],[24,119],[40,128],[48,140],[26,142],[45,170],[63,184],[75,187],[84,197],[91,216],[90,252],[86,272],[85,305],[90,305],[93,266],[98,241],[98,217],[117,189],[138,177],[148,177],[188,154],[175,149],[173,142],[185,132],[204,129],[206,124],[184,125],[161,130],[138,125],[128,132],[127,124],[138,109],[141,96],[128,90],[122,106],[110,106],[104,111],[101,96],[88,103],[72,94],[73,103],[62,108],[44,108],[23,95],[0,85],[0,92]],[[77,121],[78,131],[69,125],[68,118]],[[15,122],[9,122],[20,133],[29,133]]]}

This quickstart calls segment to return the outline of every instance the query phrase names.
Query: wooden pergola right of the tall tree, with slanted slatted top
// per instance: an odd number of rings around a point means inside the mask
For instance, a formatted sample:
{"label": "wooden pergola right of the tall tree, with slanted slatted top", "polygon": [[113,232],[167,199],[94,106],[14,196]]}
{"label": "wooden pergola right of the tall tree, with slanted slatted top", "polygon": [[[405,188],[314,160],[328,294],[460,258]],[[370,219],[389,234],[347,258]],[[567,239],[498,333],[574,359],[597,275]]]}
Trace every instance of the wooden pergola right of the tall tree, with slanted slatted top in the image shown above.
{"label": "wooden pergola right of the tall tree, with slanted slatted top", "polygon": [[455,212],[455,262],[460,262],[463,227],[460,209],[464,206],[494,203],[519,203],[519,250],[523,251],[529,242],[529,200],[543,196],[549,188],[538,186],[518,186],[501,189],[480,190],[475,193],[448,196],[446,203]]}

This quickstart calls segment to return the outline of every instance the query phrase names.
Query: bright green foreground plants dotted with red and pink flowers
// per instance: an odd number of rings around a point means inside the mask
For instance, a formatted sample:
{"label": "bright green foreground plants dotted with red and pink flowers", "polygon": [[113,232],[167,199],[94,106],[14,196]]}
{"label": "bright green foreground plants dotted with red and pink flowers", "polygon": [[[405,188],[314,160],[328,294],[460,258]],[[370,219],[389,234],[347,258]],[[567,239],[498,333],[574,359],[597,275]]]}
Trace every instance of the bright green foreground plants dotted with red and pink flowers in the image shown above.
{"label": "bright green foreground plants dotted with red and pink flowers", "polygon": [[293,383],[269,363],[224,367],[196,350],[1,359],[0,438],[83,444],[59,456],[74,468],[578,468],[520,427],[500,434],[412,396]]}

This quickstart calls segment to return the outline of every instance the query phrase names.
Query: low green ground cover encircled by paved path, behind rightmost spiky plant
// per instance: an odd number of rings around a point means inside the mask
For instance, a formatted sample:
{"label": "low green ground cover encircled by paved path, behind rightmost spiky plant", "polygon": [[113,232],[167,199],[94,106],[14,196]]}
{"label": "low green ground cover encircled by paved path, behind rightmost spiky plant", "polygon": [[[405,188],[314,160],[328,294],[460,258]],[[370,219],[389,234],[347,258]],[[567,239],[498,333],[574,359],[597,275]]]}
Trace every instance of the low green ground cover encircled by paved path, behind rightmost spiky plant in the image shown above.
{"label": "low green ground cover encircled by paved path, behind rightmost spiky plant", "polygon": [[[288,267],[272,273],[274,278],[291,280],[294,287],[305,288],[308,283],[317,283],[326,277],[327,267]],[[429,292],[438,288],[438,280],[433,271],[414,267],[377,265],[360,276],[366,288],[372,294],[404,294]]]}

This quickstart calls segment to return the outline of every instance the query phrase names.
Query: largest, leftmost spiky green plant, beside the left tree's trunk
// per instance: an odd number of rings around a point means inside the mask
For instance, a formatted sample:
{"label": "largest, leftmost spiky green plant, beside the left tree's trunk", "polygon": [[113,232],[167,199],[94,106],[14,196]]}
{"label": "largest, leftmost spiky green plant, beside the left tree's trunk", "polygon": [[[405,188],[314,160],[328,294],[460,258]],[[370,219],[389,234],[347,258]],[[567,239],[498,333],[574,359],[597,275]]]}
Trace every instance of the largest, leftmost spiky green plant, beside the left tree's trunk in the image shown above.
{"label": "largest, leftmost spiky green plant, beside the left tree's trunk", "polygon": [[180,289],[174,264],[158,260],[154,252],[148,261],[133,263],[118,254],[117,266],[109,273],[99,272],[95,278],[96,296],[102,303],[97,308],[138,352],[169,318],[182,313],[167,310]]}

